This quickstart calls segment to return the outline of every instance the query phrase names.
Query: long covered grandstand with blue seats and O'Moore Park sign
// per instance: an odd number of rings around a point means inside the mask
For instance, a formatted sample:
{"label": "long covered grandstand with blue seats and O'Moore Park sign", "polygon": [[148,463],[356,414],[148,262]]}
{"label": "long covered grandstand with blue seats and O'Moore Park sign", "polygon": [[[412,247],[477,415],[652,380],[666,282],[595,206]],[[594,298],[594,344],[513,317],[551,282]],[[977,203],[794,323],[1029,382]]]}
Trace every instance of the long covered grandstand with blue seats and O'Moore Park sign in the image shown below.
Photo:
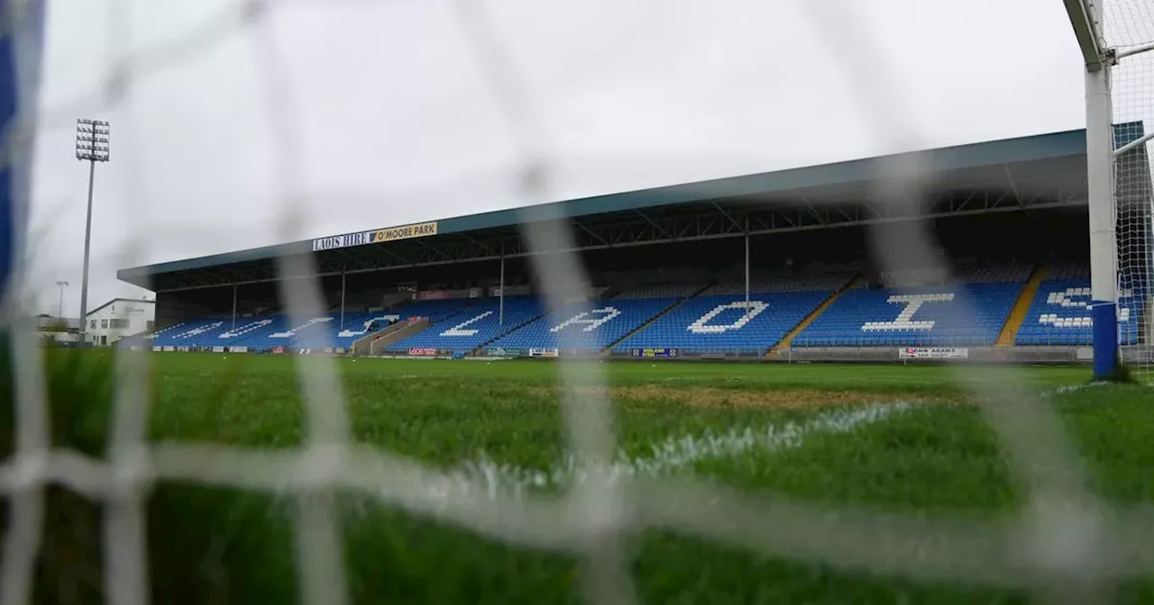
{"label": "long covered grandstand with blue seats and O'Moore Park sign", "polygon": [[[931,197],[915,209],[871,199],[876,160],[854,160],[126,269],[119,278],[157,293],[158,330],[143,336],[156,350],[1086,362],[1085,144],[1074,130],[920,152],[936,173]],[[1149,205],[1141,207],[1149,225]],[[570,221],[595,287],[592,300],[549,313],[519,229],[556,219]],[[952,269],[877,271],[870,229],[915,220],[931,221]],[[312,256],[327,315],[293,325],[282,312],[284,255]],[[1146,285],[1119,292],[1119,342],[1148,342]]]}

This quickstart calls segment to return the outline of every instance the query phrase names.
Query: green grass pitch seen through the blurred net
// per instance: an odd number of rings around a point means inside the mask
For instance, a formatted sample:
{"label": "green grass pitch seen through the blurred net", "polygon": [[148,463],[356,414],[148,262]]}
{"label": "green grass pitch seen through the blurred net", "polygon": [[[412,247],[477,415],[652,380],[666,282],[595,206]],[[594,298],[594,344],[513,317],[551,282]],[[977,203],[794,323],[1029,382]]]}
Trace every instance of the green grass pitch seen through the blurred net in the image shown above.
{"label": "green grass pitch seen through the blurred net", "polygon": [[[50,355],[54,439],[104,448],[108,353]],[[155,363],[155,440],[285,448],[301,443],[304,410],[292,358],[162,354]],[[0,369],[7,368],[0,358]],[[526,469],[564,454],[556,365],[546,362],[339,360],[357,440],[454,468],[484,453]],[[670,437],[804,423],[829,403],[932,401],[848,433],[807,436],[800,447],[700,460],[694,472],[801,500],[979,515],[1021,502],[999,444],[946,368],[607,363],[614,424],[630,456]],[[1005,369],[982,371],[996,380]],[[1034,368],[1041,388],[1077,385],[1086,369]],[[0,393],[10,376],[0,370]],[[1093,487],[1124,504],[1154,500],[1149,391],[1107,386],[1055,398],[1093,471]],[[943,404],[958,402],[962,404]],[[764,403],[764,404],[763,404]],[[781,403],[790,403],[782,406]],[[10,414],[10,406],[0,406]],[[0,416],[0,426],[10,426]],[[0,454],[10,453],[10,430]],[[570,603],[579,561],[477,537],[364,498],[340,500],[353,603]],[[53,490],[42,557],[40,603],[99,603],[98,506]],[[272,496],[162,484],[149,501],[156,603],[284,604],[297,600],[293,506]],[[868,576],[780,560],[668,531],[628,545],[645,603],[1013,603],[1027,595],[977,585]],[[1154,599],[1141,581],[1117,600]]]}

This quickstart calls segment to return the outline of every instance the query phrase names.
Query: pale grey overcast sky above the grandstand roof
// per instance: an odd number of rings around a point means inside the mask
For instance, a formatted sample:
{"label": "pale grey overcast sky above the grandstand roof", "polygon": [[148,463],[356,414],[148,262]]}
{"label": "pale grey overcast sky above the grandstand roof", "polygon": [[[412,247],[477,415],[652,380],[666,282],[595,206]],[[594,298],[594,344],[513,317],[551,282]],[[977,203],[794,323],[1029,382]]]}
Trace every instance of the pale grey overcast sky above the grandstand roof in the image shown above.
{"label": "pale grey overcast sky above the grandstand roof", "polygon": [[[541,118],[554,199],[1085,123],[1061,2],[841,0],[846,31],[812,8],[827,1],[486,6]],[[55,312],[57,280],[70,282],[65,315],[80,308],[76,118],[113,129],[96,174],[90,308],[141,294],[115,279],[125,266],[518,204],[512,131],[449,0],[273,1],[248,25],[235,3],[51,2],[32,209],[40,310]],[[133,58],[119,89],[118,56]],[[877,136],[863,85],[884,88],[916,136]],[[286,192],[307,210],[297,233],[278,220]]]}

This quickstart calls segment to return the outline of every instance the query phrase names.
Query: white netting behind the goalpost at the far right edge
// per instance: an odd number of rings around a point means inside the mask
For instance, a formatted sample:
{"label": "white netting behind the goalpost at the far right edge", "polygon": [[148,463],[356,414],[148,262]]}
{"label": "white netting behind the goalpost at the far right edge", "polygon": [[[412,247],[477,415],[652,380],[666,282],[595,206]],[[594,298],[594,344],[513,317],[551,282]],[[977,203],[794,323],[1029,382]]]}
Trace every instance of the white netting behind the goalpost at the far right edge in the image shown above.
{"label": "white netting behind the goalpost at the far right edge", "polygon": [[[1114,159],[1114,203],[1118,245],[1119,343],[1137,377],[1154,381],[1151,290],[1154,280],[1154,190],[1149,144],[1154,128],[1154,6],[1133,0],[1102,2],[1106,46],[1122,56],[1110,67],[1115,145],[1130,145]],[[1139,51],[1137,54],[1127,52]]]}

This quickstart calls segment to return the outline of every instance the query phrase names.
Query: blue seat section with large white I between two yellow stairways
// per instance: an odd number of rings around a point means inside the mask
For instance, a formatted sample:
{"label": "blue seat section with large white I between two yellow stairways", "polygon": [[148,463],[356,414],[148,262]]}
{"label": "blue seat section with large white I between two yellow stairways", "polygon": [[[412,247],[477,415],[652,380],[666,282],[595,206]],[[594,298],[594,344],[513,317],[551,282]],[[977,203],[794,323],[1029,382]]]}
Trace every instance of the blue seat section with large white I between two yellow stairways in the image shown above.
{"label": "blue seat section with large white I between two yellow stairways", "polygon": [[[795,347],[991,346],[1021,283],[845,292],[794,338]],[[965,300],[973,316],[960,311]]]}

